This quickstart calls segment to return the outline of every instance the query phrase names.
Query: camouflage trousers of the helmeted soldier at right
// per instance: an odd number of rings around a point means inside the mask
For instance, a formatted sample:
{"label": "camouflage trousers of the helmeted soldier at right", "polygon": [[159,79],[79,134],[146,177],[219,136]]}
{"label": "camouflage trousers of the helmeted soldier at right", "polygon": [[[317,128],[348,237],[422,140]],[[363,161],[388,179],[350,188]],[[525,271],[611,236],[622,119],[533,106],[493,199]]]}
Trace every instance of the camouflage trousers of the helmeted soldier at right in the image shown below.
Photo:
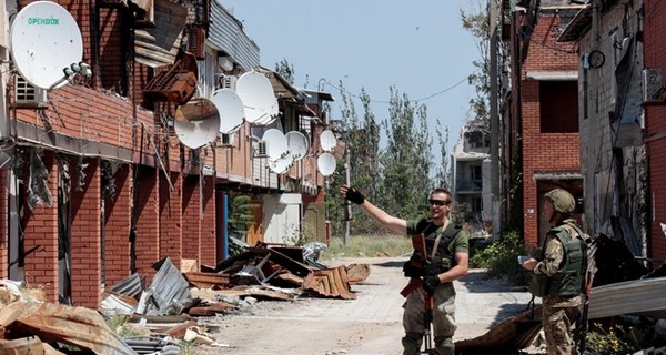
{"label": "camouflage trousers of the helmeted soldier at right", "polygon": [[581,296],[543,298],[542,326],[548,355],[575,355],[577,324],[581,318]]}

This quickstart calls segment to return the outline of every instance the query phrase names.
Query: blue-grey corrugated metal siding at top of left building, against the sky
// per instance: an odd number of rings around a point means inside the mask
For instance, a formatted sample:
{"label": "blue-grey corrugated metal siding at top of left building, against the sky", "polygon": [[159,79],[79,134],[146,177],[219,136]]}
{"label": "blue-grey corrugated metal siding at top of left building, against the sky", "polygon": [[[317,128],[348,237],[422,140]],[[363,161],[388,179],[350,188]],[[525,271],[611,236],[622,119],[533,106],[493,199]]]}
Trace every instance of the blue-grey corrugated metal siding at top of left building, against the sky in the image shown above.
{"label": "blue-grey corrugated metal siding at top of left building, against the sky", "polygon": [[259,67],[259,47],[243,32],[243,24],[218,1],[211,1],[209,43],[226,52],[245,71]]}

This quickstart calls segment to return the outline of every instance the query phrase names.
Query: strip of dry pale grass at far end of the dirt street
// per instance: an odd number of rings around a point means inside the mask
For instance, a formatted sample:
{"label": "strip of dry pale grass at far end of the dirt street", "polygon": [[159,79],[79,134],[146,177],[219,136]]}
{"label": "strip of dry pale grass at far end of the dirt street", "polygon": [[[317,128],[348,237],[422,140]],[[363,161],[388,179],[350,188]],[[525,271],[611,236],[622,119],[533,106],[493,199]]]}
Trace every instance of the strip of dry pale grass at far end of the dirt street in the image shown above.
{"label": "strip of dry pale grass at far end of the dirt street", "polygon": [[322,260],[335,257],[376,257],[376,256],[401,256],[411,254],[412,240],[404,235],[375,234],[353,235],[347,244],[343,244],[342,237],[331,240],[331,246],[321,253]]}

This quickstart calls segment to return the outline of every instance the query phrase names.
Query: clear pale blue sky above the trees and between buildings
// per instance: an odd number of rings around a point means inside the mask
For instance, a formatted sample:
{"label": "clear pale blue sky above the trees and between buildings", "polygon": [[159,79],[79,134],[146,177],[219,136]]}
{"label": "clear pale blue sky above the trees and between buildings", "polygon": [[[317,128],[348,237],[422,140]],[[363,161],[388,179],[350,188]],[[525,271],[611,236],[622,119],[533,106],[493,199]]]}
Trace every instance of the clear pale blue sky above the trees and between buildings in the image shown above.
{"label": "clear pale blue sky above the trees and between buildings", "polygon": [[[263,67],[273,70],[285,59],[294,67],[295,87],[316,90],[325,83],[324,91],[335,99],[340,80],[352,94],[365,88],[379,121],[389,115],[385,102],[394,85],[427,105],[433,134],[436,119],[448,126],[452,152],[475,95],[466,77],[481,57],[460,12],[475,11],[477,1],[219,1],[243,22]],[[332,103],[332,119],[340,119],[337,103]],[[361,103],[355,104],[362,113]],[[433,155],[438,161],[438,149]]]}

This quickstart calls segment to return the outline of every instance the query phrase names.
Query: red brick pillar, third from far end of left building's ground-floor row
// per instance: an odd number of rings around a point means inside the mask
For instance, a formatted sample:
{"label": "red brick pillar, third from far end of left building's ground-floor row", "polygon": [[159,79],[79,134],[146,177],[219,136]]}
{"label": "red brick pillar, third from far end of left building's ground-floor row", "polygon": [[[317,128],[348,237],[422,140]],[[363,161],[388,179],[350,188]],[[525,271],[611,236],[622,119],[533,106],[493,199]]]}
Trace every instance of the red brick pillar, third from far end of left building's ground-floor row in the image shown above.
{"label": "red brick pillar, third from far end of left building's ground-floor row", "polygon": [[173,190],[169,186],[164,173],[160,171],[160,256],[169,256],[180,268],[182,257],[182,175],[170,174]]}

